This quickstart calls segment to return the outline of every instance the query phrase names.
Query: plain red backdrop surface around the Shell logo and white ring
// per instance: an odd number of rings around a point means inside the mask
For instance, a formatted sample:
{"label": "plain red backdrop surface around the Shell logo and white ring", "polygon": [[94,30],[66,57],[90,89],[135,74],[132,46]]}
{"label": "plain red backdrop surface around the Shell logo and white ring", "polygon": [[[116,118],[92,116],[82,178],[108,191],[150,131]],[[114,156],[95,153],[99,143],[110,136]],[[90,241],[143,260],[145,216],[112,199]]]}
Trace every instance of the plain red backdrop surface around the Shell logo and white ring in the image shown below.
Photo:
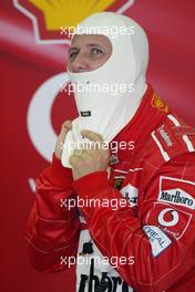
{"label": "plain red backdrop surface around the Shell logo and white ring", "polygon": [[[136,0],[125,12],[148,34],[147,80],[192,125],[195,125],[194,12],[193,0]],[[49,164],[32,144],[27,113],[38,87],[65,70],[66,48],[38,44],[31,20],[17,10],[12,1],[1,0],[1,291],[74,291],[74,269],[58,274],[34,271],[24,240],[34,196],[29,178],[35,179]],[[73,100],[58,94],[51,108],[54,132],[58,134],[61,123],[75,115]]]}

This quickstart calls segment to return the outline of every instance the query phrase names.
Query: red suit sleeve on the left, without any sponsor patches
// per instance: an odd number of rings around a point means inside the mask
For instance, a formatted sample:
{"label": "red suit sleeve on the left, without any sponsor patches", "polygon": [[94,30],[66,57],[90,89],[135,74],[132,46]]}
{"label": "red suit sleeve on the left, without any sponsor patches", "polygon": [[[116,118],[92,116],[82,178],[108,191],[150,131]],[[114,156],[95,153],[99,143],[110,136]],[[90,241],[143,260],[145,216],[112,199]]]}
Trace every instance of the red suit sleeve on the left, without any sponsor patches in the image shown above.
{"label": "red suit sleeve on the left, without any sponsor patches", "polygon": [[52,165],[37,179],[35,199],[27,225],[30,262],[41,272],[61,271],[66,268],[61,257],[76,254],[80,234],[78,210],[63,204],[74,197],[72,171],[64,168],[53,154]]}

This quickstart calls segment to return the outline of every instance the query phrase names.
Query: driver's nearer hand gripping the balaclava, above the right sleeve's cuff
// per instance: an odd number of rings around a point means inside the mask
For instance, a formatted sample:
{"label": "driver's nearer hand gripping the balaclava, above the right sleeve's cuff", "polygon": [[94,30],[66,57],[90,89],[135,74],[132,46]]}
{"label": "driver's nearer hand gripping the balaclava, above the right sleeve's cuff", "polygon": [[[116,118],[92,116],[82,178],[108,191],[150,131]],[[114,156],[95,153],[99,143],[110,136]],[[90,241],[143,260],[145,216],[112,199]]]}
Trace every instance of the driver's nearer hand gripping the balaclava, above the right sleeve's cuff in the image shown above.
{"label": "driver's nearer hand gripping the balaclava, above the right sleeve's cuff", "polygon": [[94,171],[106,170],[110,159],[110,152],[102,147],[103,138],[100,134],[83,129],[81,135],[91,140],[93,146],[85,149],[75,149],[70,157],[74,180]]}

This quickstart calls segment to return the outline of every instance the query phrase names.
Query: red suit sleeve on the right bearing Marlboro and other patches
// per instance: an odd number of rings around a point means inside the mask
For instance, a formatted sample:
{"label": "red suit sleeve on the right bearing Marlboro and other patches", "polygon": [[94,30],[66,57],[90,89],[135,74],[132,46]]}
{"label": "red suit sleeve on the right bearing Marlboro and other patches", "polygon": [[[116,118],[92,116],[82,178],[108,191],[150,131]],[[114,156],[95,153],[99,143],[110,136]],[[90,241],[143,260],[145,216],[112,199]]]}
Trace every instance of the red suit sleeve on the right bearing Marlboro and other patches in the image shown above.
{"label": "red suit sleeve on the right bearing Marlboro and other patches", "polygon": [[[119,259],[115,269],[136,291],[162,292],[194,267],[194,161],[183,157],[179,163],[167,163],[144,194],[138,194],[138,211],[121,206],[122,195],[109,184],[106,171],[86,175],[73,184],[81,198],[102,202],[100,208],[85,205],[81,211],[102,254]],[[117,201],[117,208],[103,207],[105,199]]]}

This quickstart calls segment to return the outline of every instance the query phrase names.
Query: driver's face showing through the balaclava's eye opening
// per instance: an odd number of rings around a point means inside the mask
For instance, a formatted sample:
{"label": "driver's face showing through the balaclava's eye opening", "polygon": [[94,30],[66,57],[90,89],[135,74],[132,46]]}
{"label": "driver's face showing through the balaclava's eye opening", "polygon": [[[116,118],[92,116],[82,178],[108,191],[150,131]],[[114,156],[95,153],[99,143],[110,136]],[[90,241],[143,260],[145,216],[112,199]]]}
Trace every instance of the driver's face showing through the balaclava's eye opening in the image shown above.
{"label": "driver's face showing through the balaclava's eye opening", "polygon": [[102,66],[112,54],[110,40],[102,34],[75,34],[68,56],[70,72],[88,72]]}

